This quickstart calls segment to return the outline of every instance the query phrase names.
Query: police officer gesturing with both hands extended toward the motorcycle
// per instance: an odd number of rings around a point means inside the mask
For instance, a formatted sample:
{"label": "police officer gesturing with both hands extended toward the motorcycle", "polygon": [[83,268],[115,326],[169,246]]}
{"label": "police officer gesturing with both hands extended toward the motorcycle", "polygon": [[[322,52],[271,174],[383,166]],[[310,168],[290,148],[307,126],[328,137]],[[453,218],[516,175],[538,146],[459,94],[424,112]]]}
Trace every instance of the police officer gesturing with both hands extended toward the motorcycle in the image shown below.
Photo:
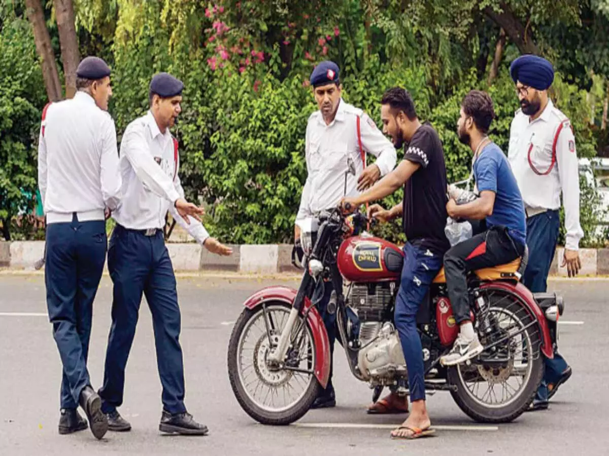
{"label": "police officer gesturing with both hands extended toward the motorcycle", "polygon": [[110,430],[131,425],[116,407],[123,401],[125,365],[138,321],[142,294],[152,313],[158,370],[163,385],[162,432],[205,435],[184,405],[184,368],[180,347],[180,308],[174,269],[163,239],[167,210],[180,226],[210,252],[232,250],[209,237],[200,222],[203,210],[184,199],[178,177],[177,140],[169,128],[181,112],[183,84],[167,73],[150,82],[150,110],[131,122],[121,141],[121,206],[114,212],[108,270],[114,283],[112,326],[108,336],[104,385],[99,390]]}

